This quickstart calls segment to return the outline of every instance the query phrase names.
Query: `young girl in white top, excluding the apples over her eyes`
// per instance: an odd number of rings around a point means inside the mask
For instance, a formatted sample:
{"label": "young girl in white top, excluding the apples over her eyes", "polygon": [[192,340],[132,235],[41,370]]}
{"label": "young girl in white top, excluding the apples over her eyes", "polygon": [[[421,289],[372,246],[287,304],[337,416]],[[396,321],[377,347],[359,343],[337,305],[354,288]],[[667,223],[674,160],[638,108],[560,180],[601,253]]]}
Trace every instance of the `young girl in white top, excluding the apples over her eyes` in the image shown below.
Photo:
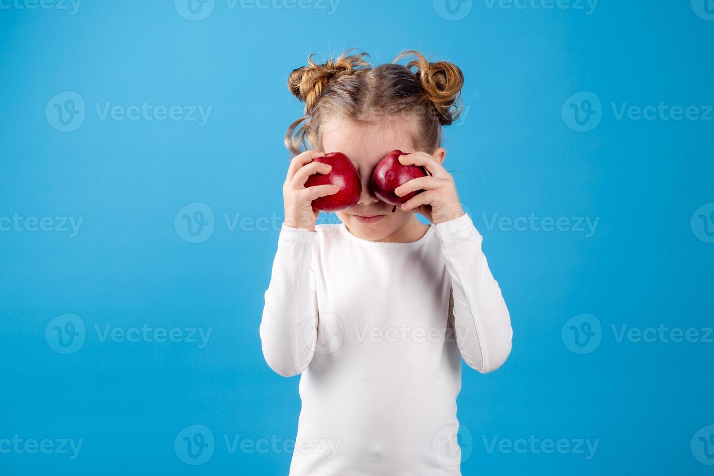
{"label": "young girl in white top, excluding the apples over her eyes", "polygon": [[[349,53],[311,57],[288,79],[305,116],[286,135],[295,157],[260,335],[273,370],[302,374],[290,475],[461,475],[461,358],[491,372],[512,336],[482,237],[442,166],[463,74],[416,51],[376,67]],[[396,64],[405,55],[413,61]],[[429,176],[397,188],[421,192],[392,211],[370,180],[395,149]],[[330,171],[313,159],[334,151],[353,161],[362,193],[336,213],[342,223],[316,225],[311,202],[338,187],[304,183]]]}

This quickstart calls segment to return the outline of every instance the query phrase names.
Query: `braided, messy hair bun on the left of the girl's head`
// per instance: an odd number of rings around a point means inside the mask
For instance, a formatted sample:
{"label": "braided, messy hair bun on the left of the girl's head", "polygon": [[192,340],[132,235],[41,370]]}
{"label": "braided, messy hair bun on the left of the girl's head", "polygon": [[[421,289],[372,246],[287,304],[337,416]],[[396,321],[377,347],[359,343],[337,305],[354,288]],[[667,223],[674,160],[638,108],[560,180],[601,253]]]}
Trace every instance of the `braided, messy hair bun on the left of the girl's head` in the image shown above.
{"label": "braided, messy hair bun on the left of the girl's head", "polygon": [[345,51],[337,59],[328,59],[324,64],[315,64],[314,55],[308,57],[308,66],[293,69],[288,77],[288,88],[296,98],[305,103],[305,112],[309,113],[317,103],[323,89],[332,81],[342,76],[354,74],[358,69],[370,64],[364,60],[366,53],[348,55],[353,50]]}

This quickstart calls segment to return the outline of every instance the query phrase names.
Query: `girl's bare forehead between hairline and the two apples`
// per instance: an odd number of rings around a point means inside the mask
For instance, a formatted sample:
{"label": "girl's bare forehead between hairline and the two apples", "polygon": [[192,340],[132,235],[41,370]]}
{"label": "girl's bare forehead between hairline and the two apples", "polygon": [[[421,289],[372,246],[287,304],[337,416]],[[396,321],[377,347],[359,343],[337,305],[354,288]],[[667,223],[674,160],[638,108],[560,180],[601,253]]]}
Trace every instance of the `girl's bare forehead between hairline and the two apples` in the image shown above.
{"label": "girl's bare forehead between hairline and the two apples", "polygon": [[360,165],[373,166],[394,149],[414,152],[408,128],[401,121],[359,124],[329,121],[321,126],[323,152],[342,152]]}

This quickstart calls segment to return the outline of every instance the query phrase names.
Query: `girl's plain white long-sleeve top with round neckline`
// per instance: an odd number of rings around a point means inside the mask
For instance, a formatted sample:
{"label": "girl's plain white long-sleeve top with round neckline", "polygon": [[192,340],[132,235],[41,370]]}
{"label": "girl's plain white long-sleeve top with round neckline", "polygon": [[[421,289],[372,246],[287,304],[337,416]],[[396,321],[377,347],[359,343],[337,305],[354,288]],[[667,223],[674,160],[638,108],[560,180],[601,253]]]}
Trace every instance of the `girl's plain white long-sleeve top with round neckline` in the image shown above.
{"label": "girl's plain white long-sleeve top with round neckline", "polygon": [[411,243],[283,224],[260,326],[280,375],[302,373],[290,476],[461,475],[461,358],[511,352],[511,319],[468,215]]}

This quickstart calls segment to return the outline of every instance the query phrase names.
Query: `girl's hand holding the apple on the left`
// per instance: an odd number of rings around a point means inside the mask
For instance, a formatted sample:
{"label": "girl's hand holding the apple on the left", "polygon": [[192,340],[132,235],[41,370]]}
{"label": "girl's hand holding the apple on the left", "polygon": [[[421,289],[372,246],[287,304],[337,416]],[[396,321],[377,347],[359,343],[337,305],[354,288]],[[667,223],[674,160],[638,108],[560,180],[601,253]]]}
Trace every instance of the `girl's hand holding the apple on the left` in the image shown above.
{"label": "girl's hand holding the apple on the left", "polygon": [[312,208],[312,201],[339,191],[339,186],[331,184],[305,188],[309,176],[314,173],[330,173],[332,170],[332,167],[326,163],[313,162],[314,159],[324,155],[323,152],[306,151],[295,156],[291,161],[288,176],[283,183],[286,226],[315,231],[315,223],[320,211]]}

